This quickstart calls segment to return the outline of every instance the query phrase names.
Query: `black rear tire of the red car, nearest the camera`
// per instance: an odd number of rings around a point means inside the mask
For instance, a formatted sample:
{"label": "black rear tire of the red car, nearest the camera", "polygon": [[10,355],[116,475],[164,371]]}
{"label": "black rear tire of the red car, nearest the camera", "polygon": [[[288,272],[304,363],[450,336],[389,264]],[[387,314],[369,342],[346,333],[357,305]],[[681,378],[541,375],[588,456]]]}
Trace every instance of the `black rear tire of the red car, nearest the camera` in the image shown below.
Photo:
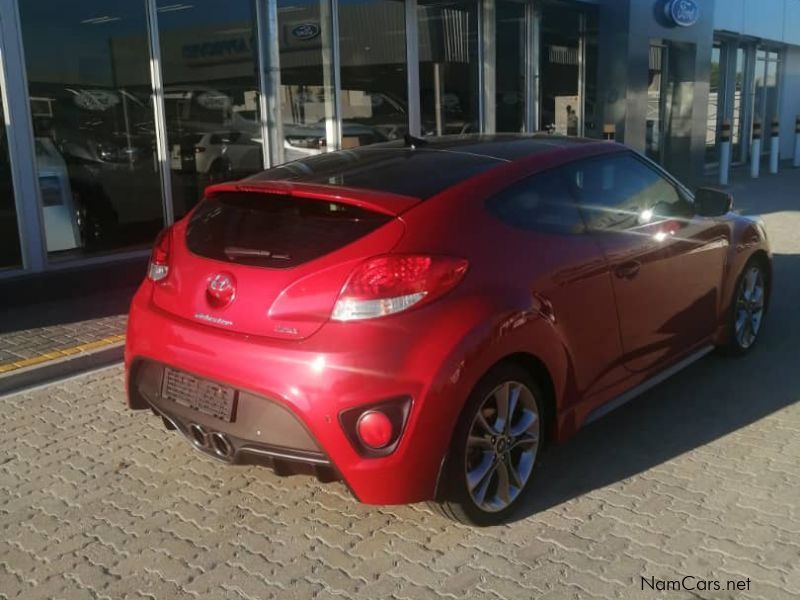
{"label": "black rear tire of the red car, nearest the camera", "polygon": [[[487,408],[487,402],[490,402],[490,399],[493,397],[493,392],[500,389],[501,386],[504,384],[510,383],[512,386],[520,385],[527,388],[530,392],[530,396],[525,395],[525,393],[520,389],[519,400],[517,401],[516,410],[512,413],[511,418],[507,419],[509,425],[514,425],[515,418],[518,424],[523,423],[523,418],[529,418],[529,416],[524,415],[521,411],[525,409],[526,406],[535,406],[536,415],[538,419],[537,425],[537,435],[536,441],[533,443],[531,440],[533,438],[533,434],[531,433],[530,437],[526,437],[526,441],[524,446],[522,442],[520,442],[520,446],[514,448],[514,442],[506,442],[509,446],[511,446],[512,450],[509,451],[508,455],[504,460],[499,458],[501,453],[497,452],[497,445],[495,444],[494,437],[491,438],[491,449],[476,449],[475,447],[468,447],[468,438],[470,436],[470,432],[472,431],[475,434],[477,431],[482,430],[481,425],[478,421],[478,411],[481,410],[483,416],[484,424],[488,424],[489,419],[492,418],[491,415],[491,408]],[[516,389],[516,388],[515,388]],[[523,400],[524,397],[524,400]],[[467,399],[466,405],[464,406],[464,410],[459,417],[458,424],[456,425],[455,432],[453,434],[453,439],[451,441],[450,450],[448,452],[447,458],[445,460],[445,464],[443,466],[443,471],[441,475],[440,481],[440,499],[438,502],[432,503],[432,507],[437,510],[439,513],[443,514],[449,519],[466,523],[470,525],[477,525],[481,527],[490,526],[490,525],[497,525],[504,522],[509,515],[516,510],[516,508],[522,503],[526,493],[531,488],[531,481],[533,480],[533,476],[536,471],[536,466],[539,462],[539,457],[541,455],[542,447],[544,440],[546,438],[546,423],[547,423],[547,415],[546,415],[546,403],[544,401],[544,394],[542,393],[542,388],[537,384],[534,378],[531,376],[528,371],[523,369],[517,364],[514,363],[501,363],[494,367],[491,371],[489,371],[475,386],[472,393],[470,394],[469,398]],[[533,404],[530,404],[530,401],[533,401]],[[522,408],[520,408],[522,407]],[[487,416],[488,410],[488,416]],[[497,416],[495,416],[497,419]],[[494,425],[497,424],[497,420],[495,420]],[[474,429],[474,428],[479,429]],[[530,430],[526,430],[525,434],[530,433]],[[520,439],[523,435],[520,436]],[[485,436],[485,443],[490,443],[490,436],[491,434],[487,434]],[[510,434],[509,434],[510,435]],[[472,439],[476,438],[473,435]],[[498,436],[499,438],[499,436]],[[516,439],[516,438],[515,438]],[[500,443],[500,442],[498,442]],[[527,457],[526,457],[526,468],[525,469],[516,469],[514,468],[514,463],[520,461],[520,465],[522,464],[522,454],[526,452],[527,448],[533,450],[533,464],[532,466],[527,466]],[[492,469],[498,470],[502,469],[505,465],[511,463],[511,469],[513,472],[517,473],[519,477],[521,470],[527,470],[527,476],[523,482],[521,487],[512,487],[510,489],[517,490],[514,492],[514,497],[508,502],[508,504],[503,508],[488,510],[480,506],[476,499],[473,497],[472,493],[470,492],[470,487],[467,483],[467,473],[475,472],[475,470],[471,470],[469,468],[471,463],[470,461],[474,461],[474,453],[478,451],[481,453],[481,458],[477,459],[480,464],[484,464],[486,453],[493,453],[493,462],[492,467],[490,467],[490,471]],[[469,454],[468,454],[469,453]],[[518,458],[514,458],[514,457]],[[480,466],[480,464],[478,466]],[[511,477],[512,470],[506,468],[506,477]],[[529,469],[529,470],[528,470]],[[484,491],[484,496],[487,496],[489,493],[495,494],[496,496],[492,496],[493,498],[500,500],[502,502],[502,497],[500,494],[500,478],[501,476],[498,474],[491,474],[489,478],[495,478],[493,481],[489,481],[486,483],[487,489],[490,489],[490,492]],[[481,481],[484,481],[481,479]],[[508,481],[508,480],[507,480]],[[494,486],[494,487],[492,487]],[[477,485],[473,488],[473,491],[480,489],[482,486]],[[507,497],[510,497],[507,494]]]}

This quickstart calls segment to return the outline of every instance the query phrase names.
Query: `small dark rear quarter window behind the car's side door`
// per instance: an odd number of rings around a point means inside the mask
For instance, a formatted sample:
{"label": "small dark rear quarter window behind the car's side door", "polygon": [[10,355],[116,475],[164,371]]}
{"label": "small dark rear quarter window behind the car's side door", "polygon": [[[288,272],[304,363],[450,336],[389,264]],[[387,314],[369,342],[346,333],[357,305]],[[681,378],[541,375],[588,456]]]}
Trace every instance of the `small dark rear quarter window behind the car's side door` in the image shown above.
{"label": "small dark rear quarter window behind the car's side door", "polygon": [[514,184],[487,202],[498,219],[518,229],[573,234],[583,219],[569,188],[569,174],[554,169]]}

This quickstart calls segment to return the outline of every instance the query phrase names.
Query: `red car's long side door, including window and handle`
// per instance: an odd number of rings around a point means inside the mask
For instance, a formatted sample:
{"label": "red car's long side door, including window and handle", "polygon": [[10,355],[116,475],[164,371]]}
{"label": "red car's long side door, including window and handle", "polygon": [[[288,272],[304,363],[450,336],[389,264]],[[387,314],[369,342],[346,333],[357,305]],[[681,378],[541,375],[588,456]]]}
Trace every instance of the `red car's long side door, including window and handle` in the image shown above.
{"label": "red car's long side door, including window and handle", "polygon": [[728,229],[695,216],[688,194],[634,153],[583,161],[570,175],[612,273],[626,367],[669,363],[717,326]]}

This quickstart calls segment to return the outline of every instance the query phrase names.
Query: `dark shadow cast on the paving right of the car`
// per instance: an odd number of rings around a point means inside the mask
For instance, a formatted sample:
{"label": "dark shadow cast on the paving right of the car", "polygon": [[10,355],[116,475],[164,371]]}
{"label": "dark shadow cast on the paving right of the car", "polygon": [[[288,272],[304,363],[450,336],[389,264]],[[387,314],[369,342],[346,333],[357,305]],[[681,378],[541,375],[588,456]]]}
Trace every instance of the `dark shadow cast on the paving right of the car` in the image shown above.
{"label": "dark shadow cast on the paving right of the car", "polygon": [[752,352],[709,355],[550,448],[513,518],[646,471],[800,400],[800,255],[774,260],[772,302]]}

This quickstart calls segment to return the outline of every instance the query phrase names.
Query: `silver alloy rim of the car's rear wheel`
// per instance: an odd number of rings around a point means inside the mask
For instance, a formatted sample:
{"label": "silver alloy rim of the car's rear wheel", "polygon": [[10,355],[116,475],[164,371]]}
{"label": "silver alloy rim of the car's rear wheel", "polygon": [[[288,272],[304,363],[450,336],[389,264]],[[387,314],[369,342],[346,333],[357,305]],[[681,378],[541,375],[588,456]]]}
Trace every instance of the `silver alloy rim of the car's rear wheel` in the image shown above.
{"label": "silver alloy rim of the car's rear wheel", "polygon": [[472,502],[485,512],[510,506],[530,479],[540,415],[531,390],[507,381],[481,403],[469,430],[464,474]]}

